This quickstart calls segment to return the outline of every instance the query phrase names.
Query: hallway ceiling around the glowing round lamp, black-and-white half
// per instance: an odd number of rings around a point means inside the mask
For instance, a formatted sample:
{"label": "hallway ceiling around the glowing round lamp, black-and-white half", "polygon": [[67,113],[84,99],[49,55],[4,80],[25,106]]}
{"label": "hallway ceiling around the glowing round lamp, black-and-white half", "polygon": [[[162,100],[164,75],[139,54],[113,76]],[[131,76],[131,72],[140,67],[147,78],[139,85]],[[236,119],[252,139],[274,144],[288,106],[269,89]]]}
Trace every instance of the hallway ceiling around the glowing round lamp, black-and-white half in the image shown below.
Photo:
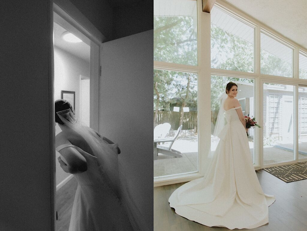
{"label": "hallway ceiling around the glowing round lamp, black-and-white half", "polygon": [[66,42],[62,38],[62,34],[65,31],[67,30],[53,22],[54,46],[57,46],[58,48],[85,60],[86,62],[90,62],[90,46],[88,46],[85,42]]}

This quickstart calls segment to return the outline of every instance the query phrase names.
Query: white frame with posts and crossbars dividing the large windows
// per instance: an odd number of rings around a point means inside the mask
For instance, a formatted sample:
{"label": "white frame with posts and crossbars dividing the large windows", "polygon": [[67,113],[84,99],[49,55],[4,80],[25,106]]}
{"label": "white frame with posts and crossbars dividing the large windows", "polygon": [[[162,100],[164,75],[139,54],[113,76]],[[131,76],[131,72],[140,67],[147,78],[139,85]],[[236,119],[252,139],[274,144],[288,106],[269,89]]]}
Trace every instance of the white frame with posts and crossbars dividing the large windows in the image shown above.
{"label": "white frame with posts and crossbars dividing the large windows", "polygon": [[[299,44],[285,38],[282,34],[274,31],[274,29],[262,24],[258,20],[250,17],[244,12],[236,9],[232,5],[222,1],[216,0],[215,6],[219,7],[227,14],[231,14],[240,21],[252,25],[255,27],[255,67],[254,73],[232,71],[232,70],[221,70],[211,68],[211,55],[210,55],[210,31],[211,31],[211,20],[210,14],[202,12],[202,1],[197,0],[198,6],[198,66],[187,66],[179,64],[167,64],[164,62],[153,62],[155,69],[160,70],[174,70],[183,72],[193,72],[198,74],[198,142],[199,142],[199,172],[192,174],[177,175],[174,177],[159,178],[154,180],[154,186],[167,185],[179,182],[190,181],[201,177],[207,167],[206,157],[210,150],[211,131],[208,128],[211,127],[210,117],[206,116],[208,111],[211,111],[210,100],[210,86],[211,86],[211,75],[237,77],[237,78],[254,78],[255,79],[255,118],[261,125],[263,121],[263,83],[281,83],[289,84],[294,86],[293,96],[293,125],[294,125],[294,161],[288,161],[283,163],[276,163],[271,165],[263,165],[263,130],[258,128],[255,133],[255,170],[262,169],[264,167],[271,167],[276,165],[284,165],[297,163],[299,161],[306,161],[306,158],[298,159],[298,86],[307,86],[307,79],[299,79],[299,53],[307,54],[307,49],[303,48]],[[273,37],[278,42],[282,42],[284,45],[293,49],[293,78],[274,76],[260,73],[260,32],[263,32],[270,37]],[[256,106],[257,105],[257,106]]]}

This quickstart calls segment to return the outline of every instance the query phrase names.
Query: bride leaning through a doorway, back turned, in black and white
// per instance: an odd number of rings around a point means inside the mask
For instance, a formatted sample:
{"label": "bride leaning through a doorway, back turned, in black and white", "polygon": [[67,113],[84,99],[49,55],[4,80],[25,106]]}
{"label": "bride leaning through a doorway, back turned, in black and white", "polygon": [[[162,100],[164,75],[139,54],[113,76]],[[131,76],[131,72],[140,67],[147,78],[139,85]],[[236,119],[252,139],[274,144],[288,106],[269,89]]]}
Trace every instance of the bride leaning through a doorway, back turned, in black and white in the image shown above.
{"label": "bride leaning through a doorway, back turned, in black and white", "polygon": [[[69,231],[132,231],[121,203],[117,144],[93,129],[77,124],[69,102],[55,102],[60,166],[78,182]],[[61,214],[59,214],[61,216]]]}

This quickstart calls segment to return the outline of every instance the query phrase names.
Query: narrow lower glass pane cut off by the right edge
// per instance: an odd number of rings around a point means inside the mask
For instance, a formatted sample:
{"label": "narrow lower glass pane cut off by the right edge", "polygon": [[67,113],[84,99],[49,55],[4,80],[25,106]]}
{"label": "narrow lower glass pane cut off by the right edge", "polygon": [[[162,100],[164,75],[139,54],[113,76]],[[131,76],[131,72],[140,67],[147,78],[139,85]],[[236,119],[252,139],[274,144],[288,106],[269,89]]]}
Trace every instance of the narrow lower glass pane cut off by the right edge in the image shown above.
{"label": "narrow lower glass pane cut off by the right edge", "polygon": [[307,157],[307,87],[298,88],[298,158]]}

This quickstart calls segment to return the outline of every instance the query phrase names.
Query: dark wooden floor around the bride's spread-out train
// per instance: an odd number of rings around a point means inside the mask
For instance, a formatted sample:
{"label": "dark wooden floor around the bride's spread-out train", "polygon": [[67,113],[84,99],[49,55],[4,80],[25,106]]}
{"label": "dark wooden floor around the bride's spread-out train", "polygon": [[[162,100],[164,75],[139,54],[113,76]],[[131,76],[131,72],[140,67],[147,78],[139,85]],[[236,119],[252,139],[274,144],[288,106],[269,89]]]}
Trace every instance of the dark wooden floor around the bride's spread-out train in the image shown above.
{"label": "dark wooden floor around the bride's spread-out train", "polygon": [[[250,231],[307,231],[307,179],[286,183],[264,170],[256,171],[264,193],[273,194],[276,201],[269,207],[269,223]],[[155,187],[154,231],[220,231],[179,216],[169,207],[168,198],[184,183]],[[238,217],[239,219],[239,217]]]}

